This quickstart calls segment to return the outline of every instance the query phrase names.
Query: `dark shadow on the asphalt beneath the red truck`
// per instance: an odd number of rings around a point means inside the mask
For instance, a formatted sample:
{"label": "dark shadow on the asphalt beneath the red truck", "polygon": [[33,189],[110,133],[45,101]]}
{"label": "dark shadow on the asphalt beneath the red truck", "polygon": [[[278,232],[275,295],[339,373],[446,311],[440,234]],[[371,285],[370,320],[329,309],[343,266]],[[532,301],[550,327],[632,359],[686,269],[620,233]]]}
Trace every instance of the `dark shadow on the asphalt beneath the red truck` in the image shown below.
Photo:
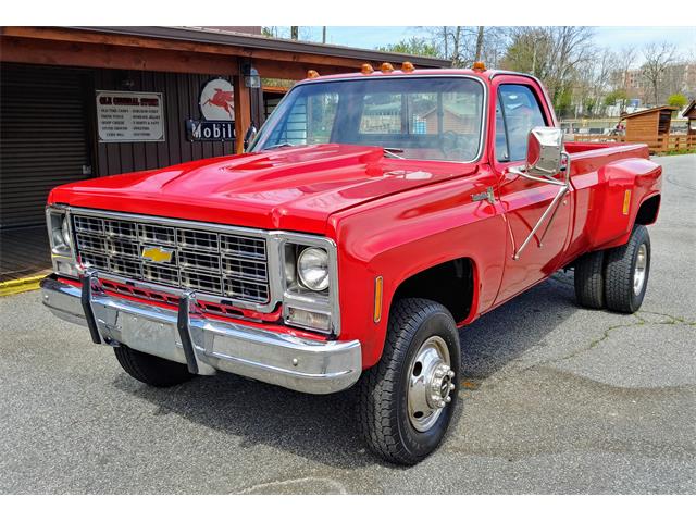
{"label": "dark shadow on the asphalt beneath the red truck", "polygon": [[[568,319],[575,311],[569,285],[572,276],[557,274],[463,328],[462,377],[488,377]],[[123,373],[114,385],[156,405],[162,414],[175,413],[241,438],[231,439],[231,447],[272,446],[344,469],[381,462],[360,439],[352,389],[312,396],[231,374],[158,389]]]}

